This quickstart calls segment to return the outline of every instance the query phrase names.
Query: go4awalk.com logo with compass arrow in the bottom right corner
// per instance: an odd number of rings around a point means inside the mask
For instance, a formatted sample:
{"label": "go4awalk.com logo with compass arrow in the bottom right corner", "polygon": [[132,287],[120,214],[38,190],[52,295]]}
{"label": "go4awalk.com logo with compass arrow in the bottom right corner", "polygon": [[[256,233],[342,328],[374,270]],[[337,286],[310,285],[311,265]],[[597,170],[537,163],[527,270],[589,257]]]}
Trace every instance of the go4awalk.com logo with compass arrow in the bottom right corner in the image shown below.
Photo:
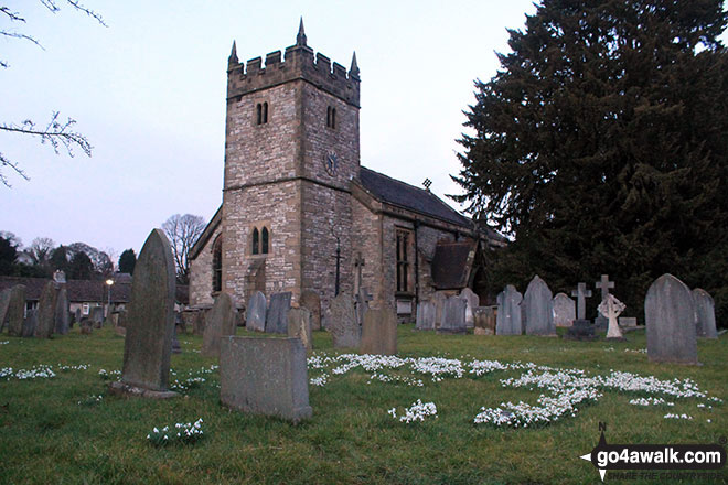
{"label": "go4awalk.com logo with compass arrow in the bottom right corner", "polygon": [[[604,438],[607,424],[600,422],[601,438],[591,453],[580,456],[590,461],[604,481],[607,471],[641,471],[632,473],[612,473],[609,477],[654,478],[654,479],[690,479],[708,478],[705,471],[720,470],[726,466],[726,444],[724,438],[720,444],[608,444]],[[655,471],[671,472],[655,472]],[[685,473],[675,471],[700,471],[702,473]],[[644,471],[652,471],[646,473]]]}

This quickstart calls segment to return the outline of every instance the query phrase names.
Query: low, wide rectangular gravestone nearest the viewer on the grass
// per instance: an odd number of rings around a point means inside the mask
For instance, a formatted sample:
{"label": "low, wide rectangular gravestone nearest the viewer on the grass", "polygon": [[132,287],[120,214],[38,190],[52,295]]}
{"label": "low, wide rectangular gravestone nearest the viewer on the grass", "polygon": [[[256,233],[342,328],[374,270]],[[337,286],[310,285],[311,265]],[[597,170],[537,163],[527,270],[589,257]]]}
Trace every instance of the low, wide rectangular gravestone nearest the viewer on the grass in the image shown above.
{"label": "low, wide rectangular gravestone nearest the viewer on the grass", "polygon": [[225,337],[220,352],[223,406],[293,422],[311,418],[300,338]]}

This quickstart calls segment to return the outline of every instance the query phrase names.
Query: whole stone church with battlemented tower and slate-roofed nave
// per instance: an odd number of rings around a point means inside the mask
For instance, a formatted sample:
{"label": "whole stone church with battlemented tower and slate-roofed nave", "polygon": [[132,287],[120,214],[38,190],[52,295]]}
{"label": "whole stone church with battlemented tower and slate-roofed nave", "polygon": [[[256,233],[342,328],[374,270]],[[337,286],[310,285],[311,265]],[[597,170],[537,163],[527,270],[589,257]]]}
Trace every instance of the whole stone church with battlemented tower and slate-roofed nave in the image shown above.
{"label": "whole stone church with battlemented tower and slate-roofed nave", "polygon": [[[366,292],[413,320],[436,291],[492,300],[490,251],[505,239],[425,187],[360,164],[360,68],[307,44],[227,64],[223,201],[190,251],[190,305],[220,292]],[[496,289],[492,289],[497,292]]]}

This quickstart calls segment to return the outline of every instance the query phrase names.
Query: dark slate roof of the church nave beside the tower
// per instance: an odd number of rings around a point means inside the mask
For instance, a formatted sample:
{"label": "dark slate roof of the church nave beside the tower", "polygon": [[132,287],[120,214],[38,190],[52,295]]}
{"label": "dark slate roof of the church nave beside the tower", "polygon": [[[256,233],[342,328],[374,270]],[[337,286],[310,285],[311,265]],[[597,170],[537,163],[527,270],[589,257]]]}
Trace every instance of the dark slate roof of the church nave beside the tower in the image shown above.
{"label": "dark slate roof of the church nave beside the tower", "polygon": [[430,191],[406,184],[365,166],[360,169],[358,180],[364,188],[383,202],[472,228],[468,217],[459,214]]}

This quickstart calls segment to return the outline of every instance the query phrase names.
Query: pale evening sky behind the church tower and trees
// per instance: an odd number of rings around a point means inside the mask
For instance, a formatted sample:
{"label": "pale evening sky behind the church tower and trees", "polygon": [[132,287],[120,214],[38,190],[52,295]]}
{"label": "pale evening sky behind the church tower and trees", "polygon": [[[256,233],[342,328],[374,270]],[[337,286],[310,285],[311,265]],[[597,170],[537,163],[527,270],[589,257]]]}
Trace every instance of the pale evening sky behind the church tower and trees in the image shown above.
{"label": "pale evening sky behind the church tower and trees", "polygon": [[[0,132],[0,152],[18,162],[0,185],[0,230],[25,246],[83,241],[137,254],[172,214],[208,220],[222,202],[227,56],[240,61],[296,42],[361,68],[362,165],[431,190],[458,193],[456,139],[474,103],[473,80],[490,79],[523,29],[529,0],[510,1],[140,1],[85,0],[108,28],[71,8],[2,2],[43,48],[0,39],[0,122],[47,122],[53,110],[77,121],[89,159],[55,155],[36,140]],[[63,4],[63,0],[58,0]],[[450,204],[453,203],[450,201]]]}

